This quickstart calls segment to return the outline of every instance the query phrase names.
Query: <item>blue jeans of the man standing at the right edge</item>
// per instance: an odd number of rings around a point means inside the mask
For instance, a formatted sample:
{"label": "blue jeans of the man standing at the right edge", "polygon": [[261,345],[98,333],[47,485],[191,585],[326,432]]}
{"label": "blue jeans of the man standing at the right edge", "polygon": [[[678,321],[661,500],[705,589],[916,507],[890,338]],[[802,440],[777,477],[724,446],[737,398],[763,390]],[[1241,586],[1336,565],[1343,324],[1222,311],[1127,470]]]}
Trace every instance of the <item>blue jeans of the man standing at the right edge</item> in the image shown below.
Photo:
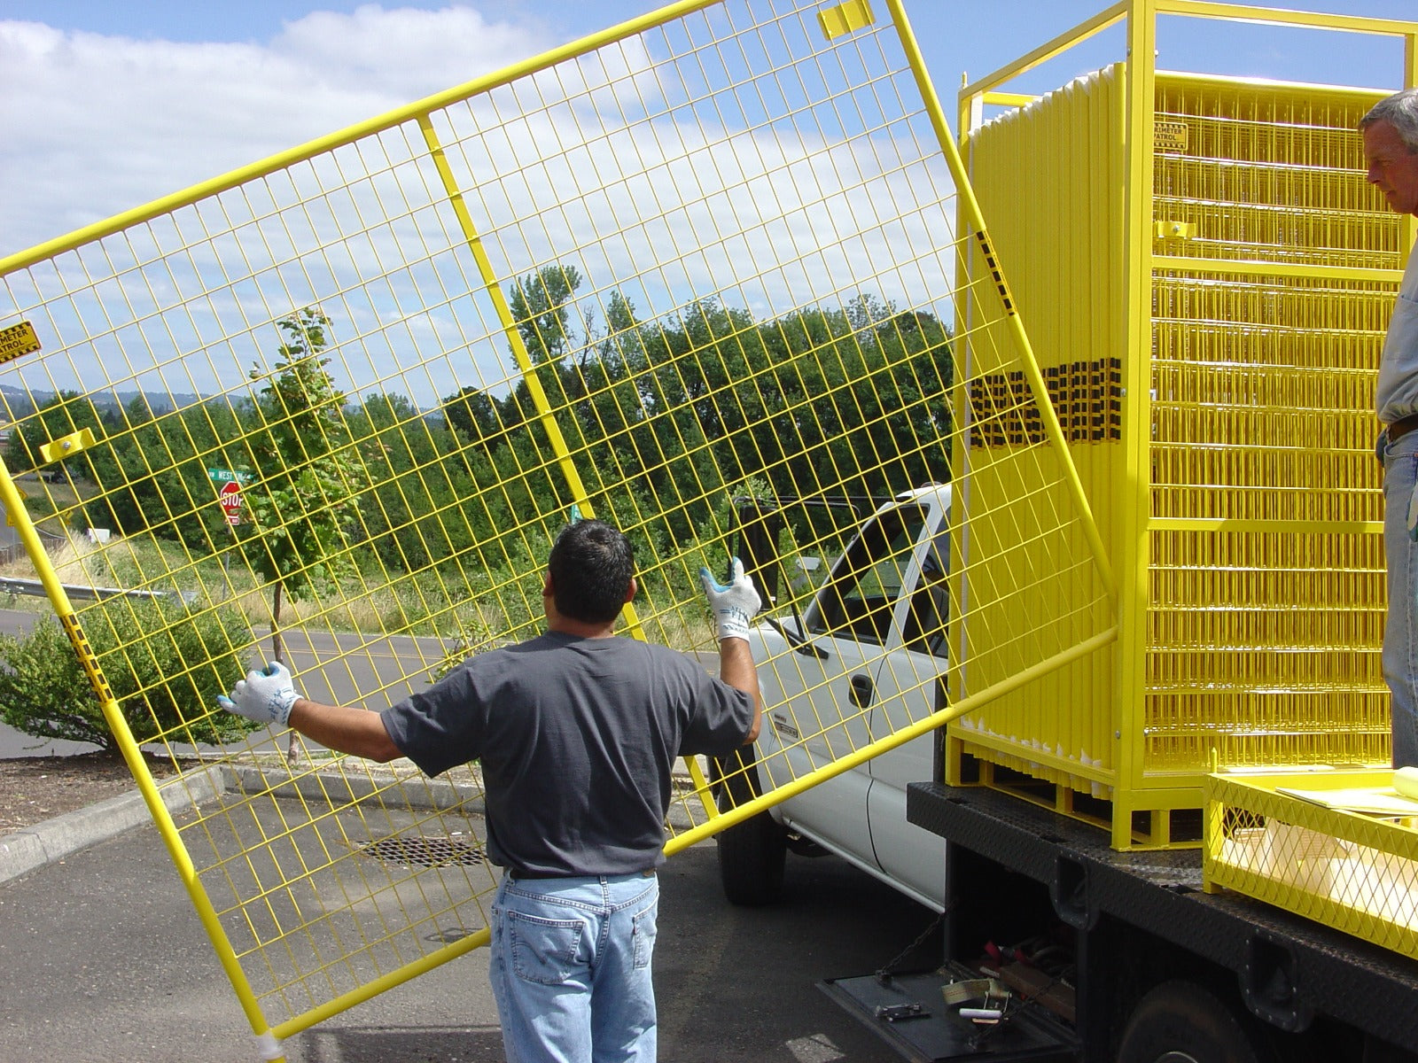
{"label": "blue jeans of the man standing at the right edge", "polygon": [[1408,500],[1418,482],[1418,431],[1387,444],[1383,456],[1388,560],[1384,682],[1392,693],[1394,767],[1401,768],[1418,765],[1418,543],[1408,534]]}

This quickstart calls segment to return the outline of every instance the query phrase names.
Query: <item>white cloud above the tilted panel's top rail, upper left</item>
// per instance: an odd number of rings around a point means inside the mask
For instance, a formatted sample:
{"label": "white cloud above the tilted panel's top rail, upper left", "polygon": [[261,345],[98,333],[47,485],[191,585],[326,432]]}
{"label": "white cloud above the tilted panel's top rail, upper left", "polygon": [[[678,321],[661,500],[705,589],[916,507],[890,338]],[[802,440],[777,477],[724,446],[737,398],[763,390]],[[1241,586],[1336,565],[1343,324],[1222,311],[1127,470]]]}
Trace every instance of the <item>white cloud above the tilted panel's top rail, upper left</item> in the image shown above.
{"label": "white cloud above the tilted panel's top rail, upper left", "polygon": [[318,11],[264,44],[0,21],[0,255],[553,44],[469,7]]}

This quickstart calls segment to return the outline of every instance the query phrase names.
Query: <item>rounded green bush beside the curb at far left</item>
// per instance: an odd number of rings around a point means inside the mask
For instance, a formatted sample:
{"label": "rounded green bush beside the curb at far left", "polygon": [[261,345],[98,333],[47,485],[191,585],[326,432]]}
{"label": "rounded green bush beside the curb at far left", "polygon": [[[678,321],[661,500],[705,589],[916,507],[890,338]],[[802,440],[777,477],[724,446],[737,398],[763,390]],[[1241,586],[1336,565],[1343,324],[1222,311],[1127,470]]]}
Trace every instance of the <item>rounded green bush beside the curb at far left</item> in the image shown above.
{"label": "rounded green bush beside the curb at far left", "polygon": [[[231,608],[113,598],[82,619],[84,635],[139,746],[221,744],[255,729],[216,707],[244,672],[251,631]],[[28,635],[0,635],[0,719],[37,738],[116,743],[68,636],[52,618]]]}

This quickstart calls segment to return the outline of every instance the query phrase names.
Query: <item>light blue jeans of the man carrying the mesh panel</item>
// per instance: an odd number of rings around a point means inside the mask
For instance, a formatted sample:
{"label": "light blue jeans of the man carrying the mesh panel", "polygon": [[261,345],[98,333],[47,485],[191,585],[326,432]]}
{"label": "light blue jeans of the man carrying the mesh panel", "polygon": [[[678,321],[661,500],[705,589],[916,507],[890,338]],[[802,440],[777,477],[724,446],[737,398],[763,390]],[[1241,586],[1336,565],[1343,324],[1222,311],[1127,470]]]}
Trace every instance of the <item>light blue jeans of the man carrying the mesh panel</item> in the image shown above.
{"label": "light blue jeans of the man carrying the mesh panel", "polygon": [[659,879],[502,876],[492,995],[508,1063],[654,1063]]}

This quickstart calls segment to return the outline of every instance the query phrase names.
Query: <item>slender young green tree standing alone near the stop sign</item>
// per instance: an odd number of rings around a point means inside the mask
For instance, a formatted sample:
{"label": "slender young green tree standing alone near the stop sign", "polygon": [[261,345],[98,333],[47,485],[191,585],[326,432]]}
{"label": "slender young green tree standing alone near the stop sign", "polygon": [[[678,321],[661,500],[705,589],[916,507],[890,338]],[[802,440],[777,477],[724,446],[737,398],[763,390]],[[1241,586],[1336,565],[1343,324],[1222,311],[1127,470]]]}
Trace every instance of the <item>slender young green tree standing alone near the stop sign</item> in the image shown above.
{"label": "slender young green tree standing alone near the stop sign", "polygon": [[345,393],[326,370],[330,319],[305,308],[277,322],[284,343],[241,441],[254,482],[242,489],[241,551],[271,584],[271,655],[285,660],[284,600],[301,601],[354,570],[352,530],[369,472],[349,437]]}

